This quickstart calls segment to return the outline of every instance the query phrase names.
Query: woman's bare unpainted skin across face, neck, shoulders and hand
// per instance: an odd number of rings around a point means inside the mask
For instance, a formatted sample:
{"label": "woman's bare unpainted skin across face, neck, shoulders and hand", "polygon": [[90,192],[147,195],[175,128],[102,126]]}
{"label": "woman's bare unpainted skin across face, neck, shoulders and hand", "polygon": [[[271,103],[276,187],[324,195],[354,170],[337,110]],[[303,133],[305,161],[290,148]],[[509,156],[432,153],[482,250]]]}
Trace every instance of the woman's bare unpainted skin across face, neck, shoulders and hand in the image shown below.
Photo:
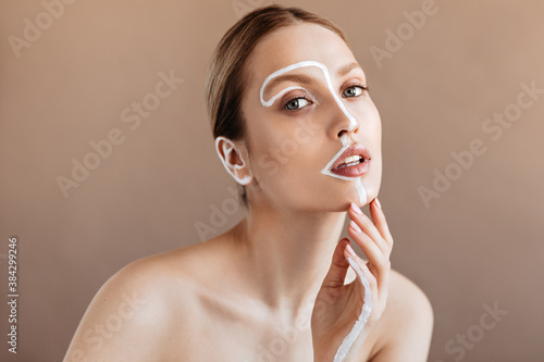
{"label": "woman's bare unpainted skin across face, neck, shoulders and hand", "polygon": [[[369,258],[356,257],[361,269],[368,267],[374,298],[371,328],[349,361],[426,360],[432,308],[413,283],[391,269],[393,238],[374,201],[381,180],[381,123],[374,104],[368,95],[343,99],[358,120],[357,128],[347,128],[348,120],[316,70],[300,71],[312,78],[305,85],[311,95],[298,89],[285,96],[312,100],[301,102],[297,112],[280,102],[264,108],[259,101],[269,74],[306,60],[331,70],[339,95],[366,83],[359,66],[336,76],[336,70],[356,60],[337,35],[321,26],[290,26],[261,40],[248,60],[243,99],[248,143],[237,141],[236,151],[219,152],[227,170],[250,179],[247,216],[211,240],[145,258],[118,272],[91,301],[65,362],[332,362],[362,300],[346,261],[349,242],[339,240],[346,211],[361,229],[349,227],[348,234],[351,246]],[[272,95],[265,93],[267,99]],[[273,173],[259,162],[293,138],[296,121],[308,120],[317,126],[311,141],[298,145],[299,152],[287,162],[277,157]],[[341,135],[372,152],[371,168],[362,176],[371,217],[357,214],[351,182],[319,173],[342,146]],[[331,285],[338,285],[324,314],[331,321],[312,320],[316,298],[324,299]],[[346,311],[351,317],[344,319]]]}

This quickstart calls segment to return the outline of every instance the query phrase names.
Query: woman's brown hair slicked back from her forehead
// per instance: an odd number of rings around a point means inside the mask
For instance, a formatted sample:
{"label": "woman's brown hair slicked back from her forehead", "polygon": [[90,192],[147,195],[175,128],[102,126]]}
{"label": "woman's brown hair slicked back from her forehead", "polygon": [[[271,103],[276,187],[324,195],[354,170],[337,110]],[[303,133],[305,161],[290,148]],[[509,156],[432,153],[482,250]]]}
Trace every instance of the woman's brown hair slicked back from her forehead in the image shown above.
{"label": "woman's brown hair slicked back from her forehead", "polygon": [[[281,5],[254,10],[223,36],[213,53],[206,80],[208,114],[214,138],[224,136],[238,140],[245,137],[242,98],[247,79],[244,70],[246,60],[267,34],[298,23],[321,25],[346,41],[342,29],[331,21],[300,8]],[[242,201],[247,205],[245,187]]]}

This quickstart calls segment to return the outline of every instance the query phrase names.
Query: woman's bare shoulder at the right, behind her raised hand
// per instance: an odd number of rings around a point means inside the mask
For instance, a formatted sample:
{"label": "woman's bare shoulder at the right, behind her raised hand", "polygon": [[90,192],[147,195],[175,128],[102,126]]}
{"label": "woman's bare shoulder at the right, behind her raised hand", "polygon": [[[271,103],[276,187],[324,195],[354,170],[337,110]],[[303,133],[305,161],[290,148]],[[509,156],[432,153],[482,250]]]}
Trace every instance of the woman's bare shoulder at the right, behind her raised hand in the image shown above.
{"label": "woman's bare shoulder at the right, behind her raised hand", "polygon": [[378,327],[372,362],[426,361],[433,329],[432,304],[423,290],[392,270],[387,305]]}

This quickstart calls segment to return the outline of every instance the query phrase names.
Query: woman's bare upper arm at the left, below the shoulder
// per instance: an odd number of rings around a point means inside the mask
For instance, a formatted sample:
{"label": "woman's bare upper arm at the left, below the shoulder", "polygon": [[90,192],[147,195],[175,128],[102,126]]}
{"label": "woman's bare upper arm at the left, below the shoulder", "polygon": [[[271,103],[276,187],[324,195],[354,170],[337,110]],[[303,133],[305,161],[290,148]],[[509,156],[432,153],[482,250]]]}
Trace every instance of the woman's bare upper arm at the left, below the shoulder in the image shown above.
{"label": "woman's bare upper arm at the left, below the shoulder", "polygon": [[159,273],[145,262],[114,274],[90,302],[63,362],[160,361],[169,328]]}

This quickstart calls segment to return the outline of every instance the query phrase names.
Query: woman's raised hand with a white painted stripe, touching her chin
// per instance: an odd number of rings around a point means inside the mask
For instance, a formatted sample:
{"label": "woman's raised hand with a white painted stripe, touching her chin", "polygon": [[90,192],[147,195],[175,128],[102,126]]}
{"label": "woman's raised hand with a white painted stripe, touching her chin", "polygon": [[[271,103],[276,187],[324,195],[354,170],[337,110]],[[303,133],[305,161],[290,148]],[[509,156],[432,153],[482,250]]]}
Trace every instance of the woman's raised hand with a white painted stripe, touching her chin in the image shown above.
{"label": "woman's raised hand with a white painted stripe, touching her chin", "polygon": [[[345,361],[348,351],[364,341],[385,310],[393,238],[378,199],[370,203],[370,214],[372,221],[355,203],[348,211],[348,235],[369,262],[354,252],[348,239],[342,239],[316,299],[311,330],[317,362]],[[344,285],[350,264],[357,278]]]}

